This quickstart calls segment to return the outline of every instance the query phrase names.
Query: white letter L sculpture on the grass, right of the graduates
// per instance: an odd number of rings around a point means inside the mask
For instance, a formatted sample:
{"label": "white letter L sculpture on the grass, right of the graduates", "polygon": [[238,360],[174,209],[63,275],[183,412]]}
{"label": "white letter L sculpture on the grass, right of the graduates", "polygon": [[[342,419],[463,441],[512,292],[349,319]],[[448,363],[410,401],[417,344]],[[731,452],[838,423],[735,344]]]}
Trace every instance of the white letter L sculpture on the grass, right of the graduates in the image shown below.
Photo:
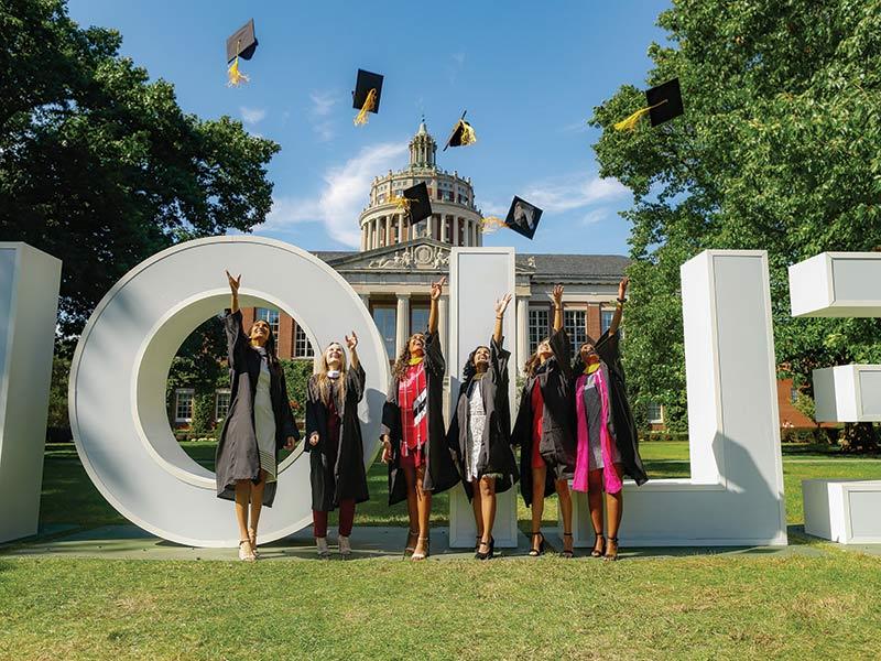
{"label": "white letter L sculpture on the grass, right of the graduates", "polygon": [[[624,546],[786,544],[768,254],[682,266],[689,479],[624,484]],[[592,546],[584,495],[575,539]]]}

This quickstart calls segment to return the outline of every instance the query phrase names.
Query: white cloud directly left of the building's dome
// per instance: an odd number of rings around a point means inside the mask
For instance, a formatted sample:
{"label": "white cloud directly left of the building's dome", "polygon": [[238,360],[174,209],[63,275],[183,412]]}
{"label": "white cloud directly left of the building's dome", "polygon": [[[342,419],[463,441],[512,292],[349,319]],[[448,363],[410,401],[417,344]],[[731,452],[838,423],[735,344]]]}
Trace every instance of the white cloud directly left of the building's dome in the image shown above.
{"label": "white cloud directly left of the building's dome", "polygon": [[367,206],[373,177],[400,165],[406,150],[405,141],[366,147],[342,165],[327,170],[317,197],[273,198],[272,210],[261,231],[290,231],[291,226],[301,223],[323,223],[331,238],[357,248],[361,243],[358,215]]}

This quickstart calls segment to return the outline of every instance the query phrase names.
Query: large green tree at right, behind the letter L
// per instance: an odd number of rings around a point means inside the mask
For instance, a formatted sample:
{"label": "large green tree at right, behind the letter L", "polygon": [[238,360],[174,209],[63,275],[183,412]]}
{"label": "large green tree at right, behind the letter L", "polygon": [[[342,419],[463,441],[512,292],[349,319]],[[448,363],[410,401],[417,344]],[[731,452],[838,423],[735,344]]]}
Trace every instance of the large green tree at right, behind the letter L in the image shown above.
{"label": "large green tree at right, behind the letter L", "polygon": [[777,362],[808,394],[815,367],[878,362],[878,319],[791,317],[786,269],[881,246],[881,1],[674,0],[659,25],[646,84],[678,77],[685,116],[616,131],[644,105],[624,86],[591,118],[600,174],[634,195],[635,398],[685,410],[678,267],[708,248],[768,250]]}

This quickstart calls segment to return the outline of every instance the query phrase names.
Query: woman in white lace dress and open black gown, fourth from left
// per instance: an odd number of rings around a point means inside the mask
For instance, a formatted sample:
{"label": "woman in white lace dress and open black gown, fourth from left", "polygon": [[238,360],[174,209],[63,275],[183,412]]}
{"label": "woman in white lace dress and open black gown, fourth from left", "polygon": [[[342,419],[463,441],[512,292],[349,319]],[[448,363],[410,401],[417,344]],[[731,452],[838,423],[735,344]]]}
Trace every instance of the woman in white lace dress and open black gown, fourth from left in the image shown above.
{"label": "woman in white lace dress and open black gown, fourth from left", "polygon": [[510,302],[511,294],[496,302],[490,346],[479,346],[468,356],[447,433],[465,494],[475,510],[478,560],[489,560],[496,550],[492,539],[496,494],[507,491],[518,480],[508,397],[511,353],[502,348],[502,322]]}

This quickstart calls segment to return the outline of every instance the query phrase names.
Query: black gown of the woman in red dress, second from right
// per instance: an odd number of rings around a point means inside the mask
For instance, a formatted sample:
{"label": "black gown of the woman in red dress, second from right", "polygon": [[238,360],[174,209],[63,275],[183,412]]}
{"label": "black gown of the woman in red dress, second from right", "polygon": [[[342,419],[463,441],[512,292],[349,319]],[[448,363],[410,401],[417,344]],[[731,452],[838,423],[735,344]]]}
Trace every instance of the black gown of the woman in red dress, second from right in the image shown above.
{"label": "black gown of the woman in red dress, second from right", "polygon": [[539,452],[547,465],[544,495],[555,490],[554,480],[575,477],[575,400],[572,394],[572,343],[561,328],[551,336],[554,356],[526,379],[520,394],[511,442],[520,446],[520,492],[532,505],[532,388],[542,389],[542,440]]}

